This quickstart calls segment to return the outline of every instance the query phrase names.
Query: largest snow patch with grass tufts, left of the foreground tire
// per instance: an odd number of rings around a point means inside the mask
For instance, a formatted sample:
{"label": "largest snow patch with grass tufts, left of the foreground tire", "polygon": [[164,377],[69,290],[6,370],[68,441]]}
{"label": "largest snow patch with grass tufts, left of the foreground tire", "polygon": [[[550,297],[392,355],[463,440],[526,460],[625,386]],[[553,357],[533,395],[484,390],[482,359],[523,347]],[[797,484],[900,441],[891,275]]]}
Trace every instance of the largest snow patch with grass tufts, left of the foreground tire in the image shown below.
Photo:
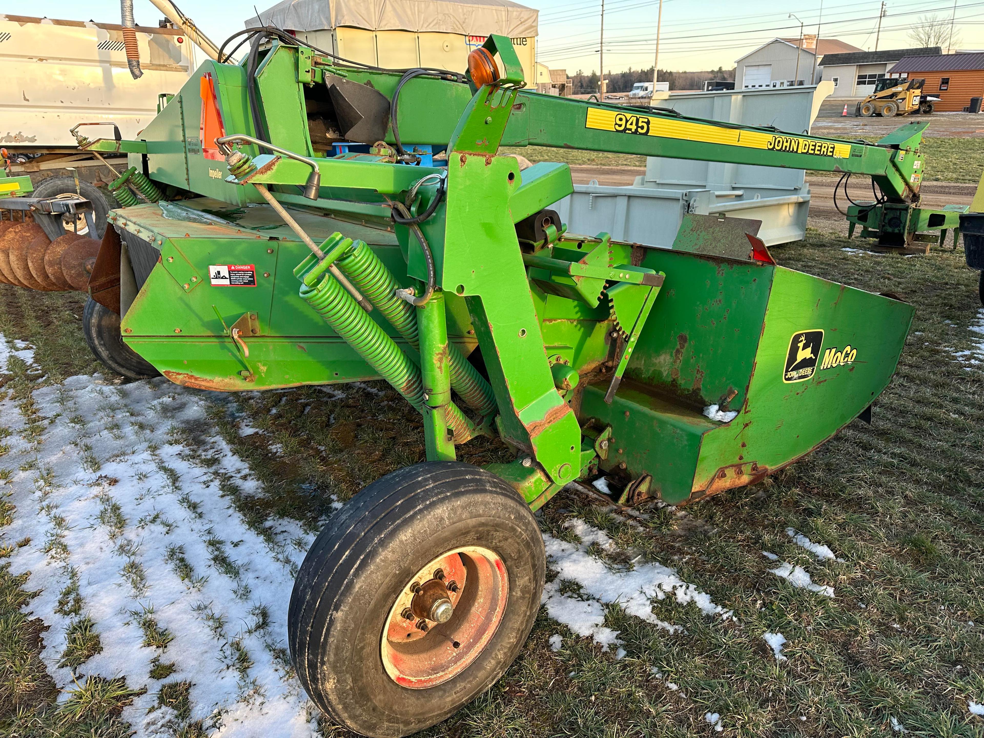
{"label": "largest snow patch with grass tufts, left of the foreground tire", "polygon": [[[28,350],[15,344],[15,355]],[[0,535],[31,539],[12,573],[30,572],[27,588],[40,591],[25,609],[50,626],[41,658],[62,699],[76,680],[123,676],[147,689],[123,713],[137,735],[174,734],[182,725],[157,694],[188,681],[190,719],[212,735],[314,734],[316,710],[290,675],[285,643],[312,536],[288,521],[262,535],[248,528],[225,497],[229,485],[263,494],[246,463],[219,437],[190,449],[169,432],[206,421],[207,396],[163,379],[73,377],[33,398],[47,425],[31,445],[10,439],[3,461],[15,470],[16,512]],[[0,402],[0,413],[16,431],[13,403]],[[209,451],[208,463],[196,459]],[[101,651],[73,669],[67,632],[86,619]],[[168,663],[173,674],[151,678]]]}

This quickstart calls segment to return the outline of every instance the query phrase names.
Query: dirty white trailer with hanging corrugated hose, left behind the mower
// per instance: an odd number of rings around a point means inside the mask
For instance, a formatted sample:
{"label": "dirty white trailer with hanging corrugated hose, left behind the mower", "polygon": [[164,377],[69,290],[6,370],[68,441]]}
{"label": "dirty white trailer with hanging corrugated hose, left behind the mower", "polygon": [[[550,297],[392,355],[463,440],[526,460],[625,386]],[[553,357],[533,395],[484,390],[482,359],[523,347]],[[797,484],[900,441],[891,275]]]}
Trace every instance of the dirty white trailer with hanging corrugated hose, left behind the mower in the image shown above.
{"label": "dirty white trailer with hanging corrugated hose, left behind the mower", "polygon": [[[3,164],[10,174],[31,176],[33,198],[74,194],[91,203],[97,233],[89,233],[83,212],[65,214],[67,230],[101,235],[115,203],[100,185],[116,179],[114,169],[126,169],[125,156],[80,152],[72,128],[96,123],[101,125],[79,133],[137,138],[157,114],[160,93],[178,92],[205,59],[188,34],[167,21],[136,31],[144,71],[139,80],[128,69],[122,26],[0,15],[0,65],[7,81],[0,86]],[[7,210],[6,217],[18,216],[25,215]],[[38,222],[53,239],[50,220]]]}

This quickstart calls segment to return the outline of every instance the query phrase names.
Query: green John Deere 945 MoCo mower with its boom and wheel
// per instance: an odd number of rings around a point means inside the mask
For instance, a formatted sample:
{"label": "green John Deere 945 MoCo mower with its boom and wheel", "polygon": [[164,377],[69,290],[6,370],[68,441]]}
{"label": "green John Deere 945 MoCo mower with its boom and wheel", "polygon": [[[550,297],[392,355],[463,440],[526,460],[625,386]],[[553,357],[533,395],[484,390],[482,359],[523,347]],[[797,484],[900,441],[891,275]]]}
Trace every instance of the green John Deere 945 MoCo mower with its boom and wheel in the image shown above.
{"label": "green John Deere 945 MoCo mower with its boom and wheel", "polygon": [[[920,124],[870,146],[526,92],[494,35],[465,76],[244,33],[242,64],[206,62],[140,140],[85,144],[155,190],[109,215],[87,331],[130,376],[385,379],[420,413],[427,461],[343,506],[294,585],[297,674],[339,724],[406,735],[502,675],[539,608],[532,511],[565,485],[682,505],[754,483],[891,381],[908,305],[777,266],[749,221],[688,215],[673,248],[568,233],[569,167],[499,151],[869,175],[868,227],[904,242]],[[516,461],[456,461],[479,435]]]}

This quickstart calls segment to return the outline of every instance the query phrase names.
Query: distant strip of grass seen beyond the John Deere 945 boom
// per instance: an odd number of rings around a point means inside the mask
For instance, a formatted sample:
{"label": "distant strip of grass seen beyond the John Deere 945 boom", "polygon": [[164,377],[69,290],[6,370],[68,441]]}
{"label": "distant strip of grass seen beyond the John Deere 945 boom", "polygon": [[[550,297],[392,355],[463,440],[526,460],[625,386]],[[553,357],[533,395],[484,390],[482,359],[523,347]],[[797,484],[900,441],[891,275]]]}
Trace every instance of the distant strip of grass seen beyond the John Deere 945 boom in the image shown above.
{"label": "distant strip of grass seen beyond the John Deere 945 boom", "polygon": [[[871,143],[877,139],[869,139]],[[962,182],[977,184],[984,171],[984,138],[925,138],[921,146],[926,154],[925,177],[928,182]],[[542,146],[503,148],[504,154],[519,154],[532,162],[560,161],[590,166],[646,166],[646,156],[582,152],[575,149],[550,149]],[[811,172],[816,175],[840,176],[836,172]]]}

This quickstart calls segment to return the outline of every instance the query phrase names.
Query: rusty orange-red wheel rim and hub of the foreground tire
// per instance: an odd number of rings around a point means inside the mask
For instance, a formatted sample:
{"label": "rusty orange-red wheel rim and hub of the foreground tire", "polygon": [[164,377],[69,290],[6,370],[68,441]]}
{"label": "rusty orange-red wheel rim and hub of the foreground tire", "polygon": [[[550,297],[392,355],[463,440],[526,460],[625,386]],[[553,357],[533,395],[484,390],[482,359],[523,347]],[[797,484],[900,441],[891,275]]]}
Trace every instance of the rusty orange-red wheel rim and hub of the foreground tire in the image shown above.
{"label": "rusty orange-red wheel rim and hub of the foreground tire", "polygon": [[489,549],[469,546],[429,562],[390,608],[380,644],[390,678],[427,689],[461,673],[492,640],[508,598],[506,567]]}

